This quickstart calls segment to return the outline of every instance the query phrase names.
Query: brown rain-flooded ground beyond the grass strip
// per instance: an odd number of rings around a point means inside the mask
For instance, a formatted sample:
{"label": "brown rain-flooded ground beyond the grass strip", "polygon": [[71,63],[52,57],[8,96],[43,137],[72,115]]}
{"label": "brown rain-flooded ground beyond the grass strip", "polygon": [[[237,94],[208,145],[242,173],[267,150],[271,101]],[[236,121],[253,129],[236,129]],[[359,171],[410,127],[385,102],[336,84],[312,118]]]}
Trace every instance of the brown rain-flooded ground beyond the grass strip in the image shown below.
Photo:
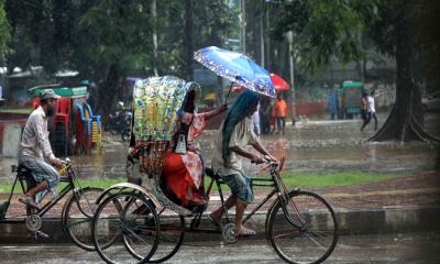
{"label": "brown rain-flooded ground beyond the grass strip", "polygon": [[[426,119],[431,133],[439,131],[439,116]],[[381,116],[383,122],[385,117]],[[381,123],[380,123],[381,124]],[[424,142],[366,142],[373,134],[373,125],[360,132],[360,120],[298,121],[295,127],[286,124],[286,134],[263,135],[263,144],[275,156],[287,156],[285,169],[292,172],[417,172],[436,167],[438,148]],[[205,161],[209,165],[217,130],[208,130],[199,139]],[[437,133],[438,134],[438,133]],[[128,143],[120,136],[105,138],[101,155],[73,156],[80,178],[121,178],[125,176]],[[0,182],[12,180],[10,165],[15,158],[0,158]],[[243,163],[249,172],[256,166]]]}

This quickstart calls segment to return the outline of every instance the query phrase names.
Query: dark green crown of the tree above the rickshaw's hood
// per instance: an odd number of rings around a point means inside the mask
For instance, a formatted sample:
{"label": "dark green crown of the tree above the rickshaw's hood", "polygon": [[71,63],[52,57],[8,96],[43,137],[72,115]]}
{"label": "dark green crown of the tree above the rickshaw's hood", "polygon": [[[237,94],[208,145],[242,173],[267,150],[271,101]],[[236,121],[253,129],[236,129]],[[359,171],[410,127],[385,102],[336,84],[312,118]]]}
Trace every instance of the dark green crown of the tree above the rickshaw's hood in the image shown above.
{"label": "dark green crown of the tree above the rickshaw's hood", "polygon": [[122,75],[146,67],[152,25],[147,9],[145,1],[97,1],[79,18],[89,40],[89,58],[102,69],[118,64]]}

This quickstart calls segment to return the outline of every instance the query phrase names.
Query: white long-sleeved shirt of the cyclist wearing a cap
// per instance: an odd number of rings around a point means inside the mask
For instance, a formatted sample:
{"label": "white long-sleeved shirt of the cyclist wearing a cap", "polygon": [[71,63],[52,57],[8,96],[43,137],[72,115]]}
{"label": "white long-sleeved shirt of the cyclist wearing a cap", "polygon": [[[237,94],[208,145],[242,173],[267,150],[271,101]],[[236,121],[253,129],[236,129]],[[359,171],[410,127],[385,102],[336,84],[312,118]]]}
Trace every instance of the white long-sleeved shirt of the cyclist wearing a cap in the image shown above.
{"label": "white long-sleeved shirt of the cyclist wearing a cap", "polygon": [[20,154],[21,156],[32,156],[38,160],[55,158],[48,142],[47,118],[42,107],[35,109],[29,116],[21,135]]}

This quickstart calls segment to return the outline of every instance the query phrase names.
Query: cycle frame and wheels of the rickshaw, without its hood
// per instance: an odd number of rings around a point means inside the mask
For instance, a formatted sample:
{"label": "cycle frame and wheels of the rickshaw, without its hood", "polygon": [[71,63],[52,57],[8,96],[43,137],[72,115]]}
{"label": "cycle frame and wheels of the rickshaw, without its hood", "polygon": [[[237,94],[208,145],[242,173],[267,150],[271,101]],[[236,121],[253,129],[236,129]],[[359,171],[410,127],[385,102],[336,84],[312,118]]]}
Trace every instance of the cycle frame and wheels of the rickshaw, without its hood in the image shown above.
{"label": "cycle frame and wheels of the rickshaw, without its hood", "polygon": [[[268,244],[287,263],[321,263],[334,250],[338,242],[338,222],[331,205],[321,196],[308,190],[287,190],[280,169],[284,160],[278,164],[265,160],[270,177],[252,178],[252,187],[273,187],[244,219],[245,223],[272,197],[275,201],[266,212],[265,234]],[[207,169],[211,178],[207,189],[210,196],[216,184],[221,205],[224,198],[221,180],[212,169]],[[218,233],[224,242],[234,243],[234,224],[224,210],[227,221],[221,230],[201,229],[201,217],[206,206],[195,207],[191,211],[166,205],[160,184],[152,190],[131,184],[119,184],[110,187],[98,199],[99,206],[92,222],[92,237],[98,254],[107,263],[160,263],[169,260],[183,244],[185,232]],[[155,190],[156,189],[156,190]],[[107,198],[103,196],[109,194]],[[165,201],[165,202],[164,202]],[[178,212],[173,220],[167,217],[168,210]],[[189,226],[185,217],[193,217]],[[102,227],[106,227],[102,229]],[[162,246],[162,248],[161,248]]]}

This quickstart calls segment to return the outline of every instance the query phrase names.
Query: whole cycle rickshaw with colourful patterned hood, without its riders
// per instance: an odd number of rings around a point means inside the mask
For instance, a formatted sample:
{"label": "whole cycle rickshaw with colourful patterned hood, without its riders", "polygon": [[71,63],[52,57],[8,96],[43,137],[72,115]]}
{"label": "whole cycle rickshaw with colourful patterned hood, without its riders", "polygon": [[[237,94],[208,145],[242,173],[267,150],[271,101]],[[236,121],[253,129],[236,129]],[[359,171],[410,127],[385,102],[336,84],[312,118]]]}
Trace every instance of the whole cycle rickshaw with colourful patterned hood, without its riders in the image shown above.
{"label": "whole cycle rickshaw with colourful patterned hood, without its riders", "polygon": [[[138,80],[133,91],[132,124],[139,152],[142,186],[120,183],[98,198],[94,216],[92,240],[107,263],[161,263],[177,253],[186,232],[219,234],[222,243],[234,243],[234,223],[226,210],[222,228],[202,221],[207,205],[185,208],[166,193],[162,170],[177,122],[177,112],[194,82],[176,77]],[[266,212],[265,237],[268,244],[287,263],[320,263],[338,241],[338,223],[330,204],[307,190],[287,190],[280,178],[280,163],[266,160],[267,177],[253,177],[252,186],[272,187],[267,197],[248,213],[246,222],[262,206],[275,197]],[[217,186],[221,205],[224,198],[221,177],[206,168],[210,183],[209,198]],[[189,222],[186,219],[190,219]]]}

